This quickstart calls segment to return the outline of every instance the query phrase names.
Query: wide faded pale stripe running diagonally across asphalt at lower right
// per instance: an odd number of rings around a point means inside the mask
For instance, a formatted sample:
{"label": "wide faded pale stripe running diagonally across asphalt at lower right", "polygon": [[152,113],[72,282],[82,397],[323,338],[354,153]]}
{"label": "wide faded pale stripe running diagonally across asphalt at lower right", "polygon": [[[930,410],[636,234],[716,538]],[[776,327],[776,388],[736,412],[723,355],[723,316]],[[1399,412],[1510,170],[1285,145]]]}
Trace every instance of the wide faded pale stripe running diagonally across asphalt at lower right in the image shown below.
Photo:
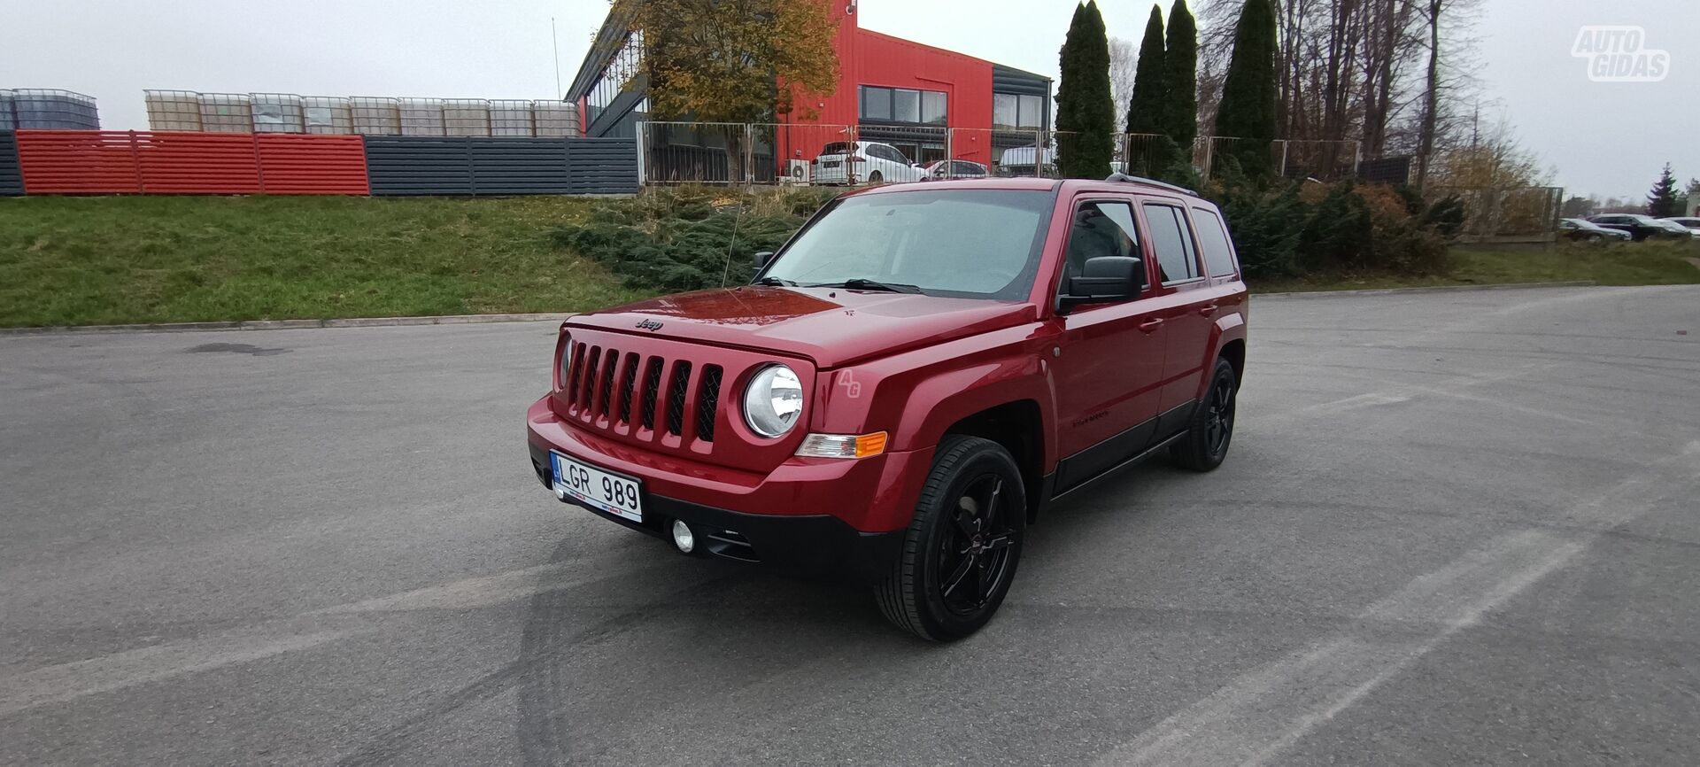
{"label": "wide faded pale stripe running diagonally across asphalt at lower right", "polygon": [[[1605,531],[1647,512],[1671,495],[1690,493],[1700,476],[1700,442],[1635,473],[1584,503],[1564,522],[1596,531],[1567,536],[1523,531],[1491,541],[1454,563],[1409,582],[1358,619],[1440,626],[1416,639],[1336,636],[1250,672],[1216,694],[1175,713],[1098,765],[1258,765],[1290,748],[1530,585],[1567,565]],[[1669,481],[1678,471],[1680,481]]]}

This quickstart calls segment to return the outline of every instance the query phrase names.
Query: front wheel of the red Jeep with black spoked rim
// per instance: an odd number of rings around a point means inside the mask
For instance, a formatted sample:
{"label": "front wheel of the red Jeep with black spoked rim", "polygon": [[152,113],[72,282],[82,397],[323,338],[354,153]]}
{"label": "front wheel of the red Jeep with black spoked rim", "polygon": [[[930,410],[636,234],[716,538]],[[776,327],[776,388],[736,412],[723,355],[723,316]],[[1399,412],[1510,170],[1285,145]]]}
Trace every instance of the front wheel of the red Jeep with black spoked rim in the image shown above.
{"label": "front wheel of the red Jeep with black spoked rim", "polygon": [[1010,452],[988,439],[947,435],[903,554],[874,588],[881,612],[930,641],[979,631],[1010,594],[1025,524],[1027,490]]}

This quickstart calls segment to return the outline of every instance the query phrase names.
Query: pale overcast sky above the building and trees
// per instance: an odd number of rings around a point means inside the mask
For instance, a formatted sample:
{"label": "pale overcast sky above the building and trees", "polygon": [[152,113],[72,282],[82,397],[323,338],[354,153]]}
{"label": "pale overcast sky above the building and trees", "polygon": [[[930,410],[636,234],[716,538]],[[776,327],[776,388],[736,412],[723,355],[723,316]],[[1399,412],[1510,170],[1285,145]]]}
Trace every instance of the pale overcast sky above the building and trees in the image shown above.
{"label": "pale overcast sky above the building and trees", "polygon": [[[1164,10],[1171,0],[1163,0]],[[1056,77],[1074,0],[860,0],[862,26]],[[1151,3],[1100,2],[1137,41]],[[969,12],[972,9],[972,12]],[[146,128],[143,88],[546,99],[570,83],[607,0],[0,0],[0,88],[100,100],[110,129]],[[1661,83],[1591,83],[1584,24],[1647,27]],[[1640,196],[1671,162],[1700,177],[1697,0],[1486,0],[1489,97],[1571,194]]]}

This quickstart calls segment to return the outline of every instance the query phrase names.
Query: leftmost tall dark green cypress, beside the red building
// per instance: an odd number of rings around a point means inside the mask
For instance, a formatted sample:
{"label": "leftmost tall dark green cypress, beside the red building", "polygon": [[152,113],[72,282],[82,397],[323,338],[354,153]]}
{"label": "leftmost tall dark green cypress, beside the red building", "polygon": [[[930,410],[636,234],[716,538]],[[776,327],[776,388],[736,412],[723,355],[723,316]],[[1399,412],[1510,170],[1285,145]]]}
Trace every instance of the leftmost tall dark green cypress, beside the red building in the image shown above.
{"label": "leftmost tall dark green cypress, beside the red building", "polygon": [[1115,102],[1110,99],[1110,39],[1098,2],[1074,9],[1061,54],[1057,85],[1057,170],[1069,179],[1110,175]]}

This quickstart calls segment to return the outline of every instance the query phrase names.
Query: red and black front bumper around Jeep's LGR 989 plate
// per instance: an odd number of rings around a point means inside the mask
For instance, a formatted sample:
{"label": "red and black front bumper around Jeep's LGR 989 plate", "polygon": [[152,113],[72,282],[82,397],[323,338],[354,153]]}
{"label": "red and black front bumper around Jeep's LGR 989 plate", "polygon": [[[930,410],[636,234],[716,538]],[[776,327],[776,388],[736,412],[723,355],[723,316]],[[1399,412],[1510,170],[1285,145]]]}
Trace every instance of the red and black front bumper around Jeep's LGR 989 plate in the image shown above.
{"label": "red and black front bumper around Jeep's LGR 989 plate", "polygon": [[896,451],[860,461],[797,459],[767,476],[714,469],[573,429],[547,398],[527,413],[527,447],[532,473],[551,493],[551,451],[643,480],[643,522],[568,498],[610,522],[670,537],[678,519],[702,534],[709,554],[860,580],[891,571],[932,463],[932,451]]}

